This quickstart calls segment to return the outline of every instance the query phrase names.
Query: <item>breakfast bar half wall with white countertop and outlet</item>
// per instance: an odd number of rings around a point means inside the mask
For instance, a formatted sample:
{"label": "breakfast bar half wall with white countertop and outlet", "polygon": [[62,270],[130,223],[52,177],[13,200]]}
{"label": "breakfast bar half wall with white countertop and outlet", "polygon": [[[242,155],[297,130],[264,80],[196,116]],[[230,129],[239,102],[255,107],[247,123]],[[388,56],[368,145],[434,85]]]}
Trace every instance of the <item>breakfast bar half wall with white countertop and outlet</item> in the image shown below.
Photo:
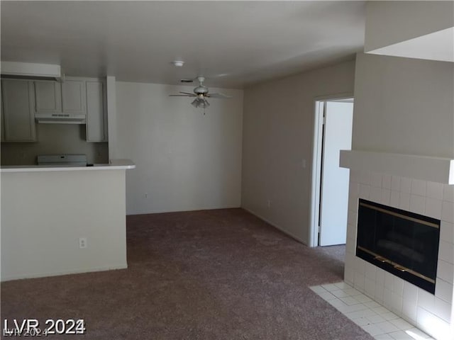
{"label": "breakfast bar half wall with white countertop and outlet", "polygon": [[127,268],[129,160],[1,168],[0,280]]}

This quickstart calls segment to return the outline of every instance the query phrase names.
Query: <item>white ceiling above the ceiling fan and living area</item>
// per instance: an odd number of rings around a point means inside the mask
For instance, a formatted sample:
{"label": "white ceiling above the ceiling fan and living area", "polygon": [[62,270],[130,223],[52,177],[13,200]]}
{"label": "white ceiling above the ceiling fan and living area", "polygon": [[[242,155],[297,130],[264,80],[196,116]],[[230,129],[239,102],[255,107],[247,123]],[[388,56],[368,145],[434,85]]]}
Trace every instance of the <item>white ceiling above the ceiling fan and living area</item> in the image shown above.
{"label": "white ceiling above the ceiling fan and living area", "polygon": [[[364,1],[1,1],[1,60],[242,88],[353,59]],[[184,67],[170,62],[182,59]]]}

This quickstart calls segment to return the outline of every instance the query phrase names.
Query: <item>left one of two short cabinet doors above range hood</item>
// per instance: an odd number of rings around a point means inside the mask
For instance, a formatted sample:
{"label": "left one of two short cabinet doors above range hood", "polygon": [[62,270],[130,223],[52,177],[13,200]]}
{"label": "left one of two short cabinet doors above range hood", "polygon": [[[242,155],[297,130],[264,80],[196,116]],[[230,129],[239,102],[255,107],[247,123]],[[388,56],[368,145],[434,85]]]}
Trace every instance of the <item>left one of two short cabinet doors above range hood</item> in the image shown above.
{"label": "left one of two short cabinet doors above range hood", "polygon": [[35,105],[37,113],[61,113],[62,91],[57,81],[35,81]]}

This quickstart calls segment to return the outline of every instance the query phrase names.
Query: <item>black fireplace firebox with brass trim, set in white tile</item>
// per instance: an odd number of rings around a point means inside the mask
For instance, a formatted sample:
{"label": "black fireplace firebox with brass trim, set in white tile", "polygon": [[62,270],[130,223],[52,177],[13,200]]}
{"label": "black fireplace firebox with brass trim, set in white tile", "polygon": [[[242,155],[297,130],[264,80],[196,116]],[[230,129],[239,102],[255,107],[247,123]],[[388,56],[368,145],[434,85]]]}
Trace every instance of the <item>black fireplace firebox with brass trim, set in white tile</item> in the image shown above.
{"label": "black fireplace firebox with brass trim, set in white tile", "polygon": [[358,204],[356,256],[434,294],[440,220],[369,200]]}

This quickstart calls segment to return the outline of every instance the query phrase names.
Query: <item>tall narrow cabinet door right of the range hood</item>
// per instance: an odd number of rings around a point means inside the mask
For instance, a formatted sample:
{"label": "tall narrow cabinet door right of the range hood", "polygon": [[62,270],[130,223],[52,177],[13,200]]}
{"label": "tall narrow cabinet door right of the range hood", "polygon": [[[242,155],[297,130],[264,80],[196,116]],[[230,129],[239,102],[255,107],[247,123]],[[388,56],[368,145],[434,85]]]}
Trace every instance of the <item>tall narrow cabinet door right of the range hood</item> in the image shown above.
{"label": "tall narrow cabinet door right of the range hood", "polygon": [[107,140],[104,87],[102,81],[87,81],[87,142]]}

